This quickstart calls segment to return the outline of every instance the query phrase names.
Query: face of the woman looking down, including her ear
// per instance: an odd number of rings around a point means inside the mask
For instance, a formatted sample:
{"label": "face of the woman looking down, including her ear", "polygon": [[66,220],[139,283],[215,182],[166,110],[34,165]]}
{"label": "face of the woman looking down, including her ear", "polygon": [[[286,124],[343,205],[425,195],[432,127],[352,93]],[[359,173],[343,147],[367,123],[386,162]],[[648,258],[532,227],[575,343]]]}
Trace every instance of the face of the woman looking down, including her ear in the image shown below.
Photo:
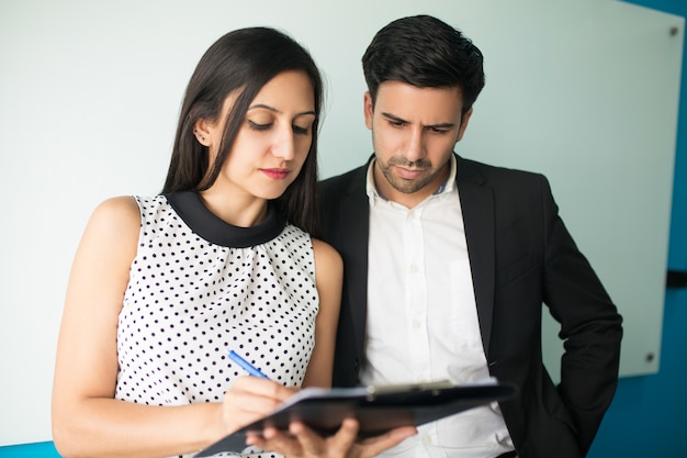
{"label": "face of the woman looking down, including her ear", "polygon": [[[211,158],[217,155],[229,96],[218,123],[206,123]],[[279,198],[297,177],[313,142],[315,97],[307,74],[283,71],[250,103],[222,172],[213,185],[259,199]]]}

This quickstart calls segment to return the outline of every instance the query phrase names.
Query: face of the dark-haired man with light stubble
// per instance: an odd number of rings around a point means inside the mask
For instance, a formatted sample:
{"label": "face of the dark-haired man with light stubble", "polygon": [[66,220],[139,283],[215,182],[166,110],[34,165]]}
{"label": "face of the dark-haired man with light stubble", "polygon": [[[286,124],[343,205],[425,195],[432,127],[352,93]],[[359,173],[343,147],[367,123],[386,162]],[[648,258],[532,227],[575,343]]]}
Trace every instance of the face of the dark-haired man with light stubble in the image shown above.
{"label": "face of the dark-haired man with light stubble", "polygon": [[460,88],[417,88],[401,81],[380,85],[372,105],[364,97],[365,125],[376,157],[374,180],[384,198],[415,206],[449,174],[449,158],[472,114],[461,118]]}

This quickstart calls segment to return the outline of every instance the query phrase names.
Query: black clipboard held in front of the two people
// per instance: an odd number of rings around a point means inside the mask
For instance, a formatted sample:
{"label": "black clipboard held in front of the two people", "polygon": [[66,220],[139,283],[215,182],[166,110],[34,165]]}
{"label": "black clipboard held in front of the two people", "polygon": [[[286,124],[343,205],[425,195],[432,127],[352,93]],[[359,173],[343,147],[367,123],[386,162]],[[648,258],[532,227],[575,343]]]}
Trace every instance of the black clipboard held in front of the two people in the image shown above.
{"label": "black clipboard held in front of the two people", "polygon": [[358,438],[386,433],[401,426],[419,426],[494,401],[517,395],[513,384],[487,379],[474,384],[433,382],[388,387],[305,388],[281,404],[272,414],[229,434],[201,450],[196,458],[218,453],[241,453],[246,433],[261,433],[267,426],[288,429],[301,421],[322,436],[335,434],[344,418],[360,423]]}

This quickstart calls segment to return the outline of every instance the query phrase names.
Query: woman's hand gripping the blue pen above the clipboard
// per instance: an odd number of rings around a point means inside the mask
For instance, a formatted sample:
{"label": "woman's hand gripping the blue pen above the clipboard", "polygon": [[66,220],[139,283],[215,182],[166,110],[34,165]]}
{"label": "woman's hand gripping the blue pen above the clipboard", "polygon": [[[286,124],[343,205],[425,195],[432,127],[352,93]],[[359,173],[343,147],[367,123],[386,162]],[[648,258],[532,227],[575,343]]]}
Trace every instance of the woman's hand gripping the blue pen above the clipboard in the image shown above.
{"label": "woman's hand gripping the blue pen above the clipboard", "polygon": [[268,415],[297,390],[268,379],[239,377],[224,393],[222,421],[225,431],[222,436]]}

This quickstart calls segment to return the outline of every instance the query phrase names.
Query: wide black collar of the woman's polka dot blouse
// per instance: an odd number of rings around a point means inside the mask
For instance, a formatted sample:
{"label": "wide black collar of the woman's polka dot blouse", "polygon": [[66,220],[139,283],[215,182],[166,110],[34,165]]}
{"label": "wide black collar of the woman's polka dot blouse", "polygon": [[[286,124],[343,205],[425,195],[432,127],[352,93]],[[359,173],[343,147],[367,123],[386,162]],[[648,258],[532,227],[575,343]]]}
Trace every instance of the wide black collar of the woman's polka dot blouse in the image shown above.
{"label": "wide black collar of the woman's polka dot blouse", "polygon": [[277,237],[285,221],[274,202],[268,202],[264,221],[257,226],[239,227],[217,217],[203,204],[196,192],[172,192],[165,194],[169,204],[191,230],[215,245],[229,248],[247,248]]}

